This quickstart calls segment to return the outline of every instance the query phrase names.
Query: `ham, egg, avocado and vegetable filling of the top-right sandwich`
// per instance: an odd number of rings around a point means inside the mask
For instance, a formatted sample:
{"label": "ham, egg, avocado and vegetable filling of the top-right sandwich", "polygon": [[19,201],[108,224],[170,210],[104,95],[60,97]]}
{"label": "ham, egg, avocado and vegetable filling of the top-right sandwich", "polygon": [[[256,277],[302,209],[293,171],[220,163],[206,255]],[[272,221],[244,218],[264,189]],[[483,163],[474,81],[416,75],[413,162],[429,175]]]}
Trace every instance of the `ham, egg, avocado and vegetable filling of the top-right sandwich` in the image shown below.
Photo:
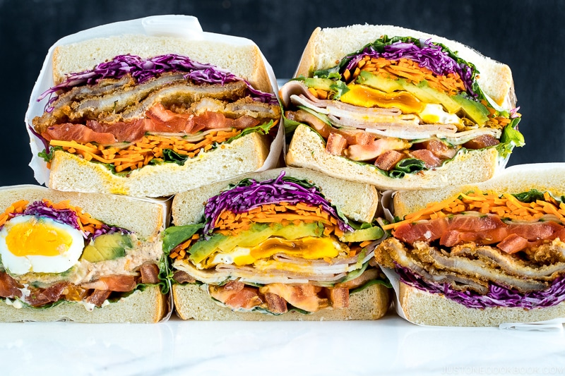
{"label": "ham, egg, avocado and vegetable filling of the top-right sandwich", "polygon": [[326,152],[386,176],[433,169],[465,150],[523,145],[517,109],[482,92],[478,71],[443,44],[381,37],[312,77],[285,84],[287,134],[304,124]]}

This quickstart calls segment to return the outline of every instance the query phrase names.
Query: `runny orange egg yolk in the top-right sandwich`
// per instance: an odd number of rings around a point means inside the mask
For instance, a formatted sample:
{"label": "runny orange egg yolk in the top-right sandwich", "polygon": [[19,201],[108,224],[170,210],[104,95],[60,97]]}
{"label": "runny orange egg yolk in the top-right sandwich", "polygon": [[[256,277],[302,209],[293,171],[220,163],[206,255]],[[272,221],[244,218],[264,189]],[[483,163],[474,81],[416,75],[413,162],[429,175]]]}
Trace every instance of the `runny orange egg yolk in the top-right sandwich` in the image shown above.
{"label": "runny orange egg yolk in the top-right sandwich", "polygon": [[348,92],[340,97],[340,101],[362,107],[398,107],[403,114],[415,114],[424,109],[420,102],[409,92],[381,92],[364,85],[348,85]]}

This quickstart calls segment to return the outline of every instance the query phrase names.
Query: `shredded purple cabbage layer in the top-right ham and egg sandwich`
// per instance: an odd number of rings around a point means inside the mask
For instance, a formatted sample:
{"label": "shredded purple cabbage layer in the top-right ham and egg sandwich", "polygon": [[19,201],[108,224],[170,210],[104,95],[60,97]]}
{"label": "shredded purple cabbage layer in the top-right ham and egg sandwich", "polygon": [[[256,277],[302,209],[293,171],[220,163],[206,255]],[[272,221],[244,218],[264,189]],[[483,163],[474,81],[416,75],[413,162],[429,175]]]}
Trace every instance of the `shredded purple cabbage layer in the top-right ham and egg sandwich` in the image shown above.
{"label": "shredded purple cabbage layer in the top-right ham and egg sandwich", "polygon": [[414,42],[395,42],[383,47],[384,51],[376,51],[373,47],[367,47],[361,54],[354,56],[346,68],[352,70],[364,56],[383,57],[387,60],[409,59],[418,63],[419,66],[428,68],[436,75],[447,75],[458,73],[465,84],[465,90],[476,97],[472,90],[472,68],[466,64],[458,63],[444,51],[441,46],[433,44],[429,40],[420,40],[420,46]]}

